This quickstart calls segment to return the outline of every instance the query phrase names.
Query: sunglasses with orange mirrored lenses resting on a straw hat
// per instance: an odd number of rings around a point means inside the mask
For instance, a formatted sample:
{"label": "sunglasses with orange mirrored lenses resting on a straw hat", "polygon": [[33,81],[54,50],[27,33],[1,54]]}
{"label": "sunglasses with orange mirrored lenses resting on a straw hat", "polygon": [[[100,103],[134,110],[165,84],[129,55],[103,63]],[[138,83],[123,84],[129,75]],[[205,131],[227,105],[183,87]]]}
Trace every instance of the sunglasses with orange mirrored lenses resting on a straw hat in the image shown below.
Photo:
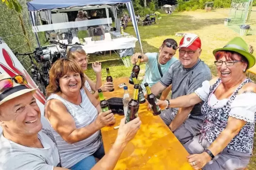
{"label": "sunglasses with orange mirrored lenses resting on a straw hat", "polygon": [[28,84],[27,80],[21,75],[14,76],[12,78],[2,79],[0,80],[0,92],[4,92],[13,88],[13,80],[20,85]]}

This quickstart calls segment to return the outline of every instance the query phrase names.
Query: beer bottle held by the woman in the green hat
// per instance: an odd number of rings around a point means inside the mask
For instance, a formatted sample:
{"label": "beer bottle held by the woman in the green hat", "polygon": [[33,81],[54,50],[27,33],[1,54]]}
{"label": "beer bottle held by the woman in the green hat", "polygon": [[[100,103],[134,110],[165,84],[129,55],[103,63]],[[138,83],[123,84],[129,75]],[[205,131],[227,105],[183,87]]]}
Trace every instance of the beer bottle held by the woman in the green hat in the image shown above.
{"label": "beer bottle held by the woman in the green hat", "polygon": [[148,83],[145,83],[144,86],[146,87],[146,90],[147,90],[147,94],[148,94],[147,100],[150,104],[151,110],[153,111],[153,115],[155,116],[159,115],[161,113],[161,109],[159,108],[159,106],[156,105],[157,100],[155,95],[151,92]]}

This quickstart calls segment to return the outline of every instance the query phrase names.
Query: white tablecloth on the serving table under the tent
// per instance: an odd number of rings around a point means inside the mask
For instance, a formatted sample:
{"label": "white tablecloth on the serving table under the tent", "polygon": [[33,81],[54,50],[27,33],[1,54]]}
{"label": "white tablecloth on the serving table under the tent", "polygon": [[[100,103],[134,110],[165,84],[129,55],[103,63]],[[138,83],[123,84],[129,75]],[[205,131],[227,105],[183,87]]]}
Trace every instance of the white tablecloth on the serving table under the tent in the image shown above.
{"label": "white tablecloth on the serving table under the tent", "polygon": [[98,51],[109,51],[117,49],[126,49],[126,48],[135,48],[135,43],[138,41],[137,38],[117,38],[112,39],[111,41],[93,41],[89,44],[84,43],[82,45],[86,53],[94,53]]}

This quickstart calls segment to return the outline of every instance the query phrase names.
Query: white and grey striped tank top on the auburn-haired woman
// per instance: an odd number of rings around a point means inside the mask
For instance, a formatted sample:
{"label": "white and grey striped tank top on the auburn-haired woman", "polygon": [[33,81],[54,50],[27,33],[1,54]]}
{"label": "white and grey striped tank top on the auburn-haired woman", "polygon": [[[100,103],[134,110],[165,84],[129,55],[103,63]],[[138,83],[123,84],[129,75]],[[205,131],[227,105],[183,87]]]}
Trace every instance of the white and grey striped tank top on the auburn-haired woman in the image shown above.
{"label": "white and grey striped tank top on the auburn-haired woman", "polygon": [[[88,126],[94,122],[98,116],[97,109],[92,105],[83,88],[80,90],[80,93],[82,95],[82,103],[80,103],[80,105],[70,103],[57,94],[51,94],[47,99],[47,102],[51,99],[61,101],[72,115],[76,128]],[[70,168],[85,157],[93,154],[100,148],[102,143],[100,130],[87,139],[74,144],[68,144],[53,128],[52,130],[57,142],[63,168]]]}

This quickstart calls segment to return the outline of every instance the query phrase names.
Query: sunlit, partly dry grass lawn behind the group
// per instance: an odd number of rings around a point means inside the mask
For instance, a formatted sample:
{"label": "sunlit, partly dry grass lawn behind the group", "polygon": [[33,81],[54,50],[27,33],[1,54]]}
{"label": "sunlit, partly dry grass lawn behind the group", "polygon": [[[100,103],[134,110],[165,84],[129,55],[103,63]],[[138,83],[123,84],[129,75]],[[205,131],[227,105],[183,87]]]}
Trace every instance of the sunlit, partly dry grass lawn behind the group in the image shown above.
{"label": "sunlit, partly dry grass lawn behind the group", "polygon": [[[212,74],[217,75],[216,67],[214,65],[215,58],[212,55],[212,50],[223,47],[229,40],[239,36],[235,31],[224,26],[224,19],[227,17],[223,11],[208,12],[204,10],[197,10],[195,12],[183,12],[172,15],[162,15],[159,24],[151,26],[139,26],[140,37],[142,41],[143,52],[158,51],[161,43],[167,38],[173,38],[177,42],[182,37],[175,37],[175,33],[194,33],[200,36],[202,41],[202,55],[201,59],[210,67]],[[135,36],[134,28],[130,26],[124,31]],[[245,36],[243,39],[256,48],[256,35]],[[139,43],[136,43],[136,52],[140,52]],[[176,54],[175,56],[178,57]],[[105,68],[109,67],[113,78],[130,76],[132,67],[126,68],[117,55],[112,53],[112,56],[96,56],[91,55],[89,62],[101,61],[102,63],[102,80],[106,78]],[[144,75],[145,65],[141,65],[141,72],[139,79]],[[86,74],[95,80],[95,74],[89,64]],[[256,76],[251,76],[256,81]],[[254,140],[254,151],[248,169],[256,169],[256,138]]]}

